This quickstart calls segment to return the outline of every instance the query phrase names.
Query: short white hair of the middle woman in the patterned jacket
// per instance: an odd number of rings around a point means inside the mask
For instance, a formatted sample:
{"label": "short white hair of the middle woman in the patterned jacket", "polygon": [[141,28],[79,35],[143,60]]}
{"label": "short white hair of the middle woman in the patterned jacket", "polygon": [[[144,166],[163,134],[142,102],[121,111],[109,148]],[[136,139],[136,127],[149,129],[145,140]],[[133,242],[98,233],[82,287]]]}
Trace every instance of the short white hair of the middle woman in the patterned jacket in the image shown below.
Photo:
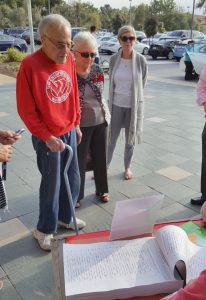
{"label": "short white hair of the middle woman in the patterned jacket", "polygon": [[74,51],[78,49],[78,47],[82,44],[89,45],[97,51],[97,41],[96,38],[89,31],[80,31],[78,32],[74,39]]}

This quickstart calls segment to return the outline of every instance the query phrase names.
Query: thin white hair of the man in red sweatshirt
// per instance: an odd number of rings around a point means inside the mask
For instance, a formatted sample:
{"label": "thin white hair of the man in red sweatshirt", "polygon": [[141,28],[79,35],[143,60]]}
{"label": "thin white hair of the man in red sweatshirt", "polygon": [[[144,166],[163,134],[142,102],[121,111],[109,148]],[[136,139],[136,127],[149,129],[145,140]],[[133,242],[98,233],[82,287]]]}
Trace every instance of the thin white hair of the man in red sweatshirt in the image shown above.
{"label": "thin white hair of the man in red sweatshirt", "polygon": [[69,23],[69,21],[67,19],[65,19],[63,16],[59,15],[59,14],[50,14],[47,15],[46,17],[44,17],[38,26],[38,31],[40,36],[42,34],[47,34],[47,30],[48,28],[51,27],[65,27],[68,28],[68,30],[71,33],[71,24]]}

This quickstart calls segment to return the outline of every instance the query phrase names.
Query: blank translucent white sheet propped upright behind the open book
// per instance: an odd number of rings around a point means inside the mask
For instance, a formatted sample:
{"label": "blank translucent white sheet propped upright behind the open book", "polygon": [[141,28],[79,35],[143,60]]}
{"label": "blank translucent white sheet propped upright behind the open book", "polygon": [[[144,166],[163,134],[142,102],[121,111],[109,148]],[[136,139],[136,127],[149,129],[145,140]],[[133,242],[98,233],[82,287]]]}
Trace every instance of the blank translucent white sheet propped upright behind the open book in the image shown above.
{"label": "blank translucent white sheet propped upright behind the open book", "polygon": [[164,195],[117,201],[112,219],[110,240],[152,233]]}

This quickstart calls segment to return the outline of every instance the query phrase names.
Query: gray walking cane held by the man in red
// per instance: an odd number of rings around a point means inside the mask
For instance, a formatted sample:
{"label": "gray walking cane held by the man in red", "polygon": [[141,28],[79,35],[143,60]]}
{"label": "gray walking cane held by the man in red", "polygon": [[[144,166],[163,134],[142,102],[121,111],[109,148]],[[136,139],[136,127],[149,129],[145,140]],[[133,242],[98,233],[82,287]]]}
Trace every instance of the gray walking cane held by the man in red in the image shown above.
{"label": "gray walking cane held by the man in red", "polygon": [[68,179],[68,169],[73,157],[73,150],[69,145],[65,144],[65,148],[69,151],[69,158],[67,160],[66,166],[64,168],[64,179],[65,179],[65,184],[66,184],[66,189],[67,189],[67,195],[69,198],[69,205],[70,205],[70,209],[71,209],[71,215],[72,215],[72,219],[74,222],[74,227],[75,227],[75,231],[76,234],[79,234],[79,230],[78,230],[78,226],[77,226],[77,220],[76,220],[76,216],[75,216],[75,209],[74,209],[74,204],[72,201],[72,194],[71,194],[71,189],[70,189],[70,184],[69,184],[69,179]]}

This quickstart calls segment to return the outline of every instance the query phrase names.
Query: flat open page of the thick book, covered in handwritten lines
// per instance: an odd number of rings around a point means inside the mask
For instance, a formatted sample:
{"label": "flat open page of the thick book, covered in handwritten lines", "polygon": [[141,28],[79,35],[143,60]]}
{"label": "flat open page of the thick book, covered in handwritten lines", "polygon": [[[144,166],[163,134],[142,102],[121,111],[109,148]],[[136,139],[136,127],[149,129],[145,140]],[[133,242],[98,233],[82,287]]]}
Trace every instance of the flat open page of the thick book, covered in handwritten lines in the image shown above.
{"label": "flat open page of the thick book, covered in handwritten lines", "polygon": [[154,237],[64,244],[63,261],[66,296],[175,281]]}

